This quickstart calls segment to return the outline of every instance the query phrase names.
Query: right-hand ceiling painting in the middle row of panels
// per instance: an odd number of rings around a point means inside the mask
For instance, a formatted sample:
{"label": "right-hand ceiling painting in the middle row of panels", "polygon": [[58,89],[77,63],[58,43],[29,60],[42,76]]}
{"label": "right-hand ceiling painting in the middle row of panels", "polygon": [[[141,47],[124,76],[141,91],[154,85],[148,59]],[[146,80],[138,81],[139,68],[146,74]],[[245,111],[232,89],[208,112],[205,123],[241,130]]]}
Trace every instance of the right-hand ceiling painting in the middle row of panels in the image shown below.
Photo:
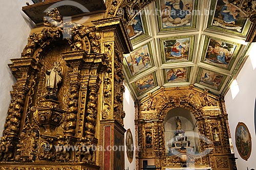
{"label": "right-hand ceiling painting in the middle row of panels", "polygon": [[[230,70],[241,49],[240,44],[206,36],[201,62]],[[208,45],[207,45],[208,44]]]}

